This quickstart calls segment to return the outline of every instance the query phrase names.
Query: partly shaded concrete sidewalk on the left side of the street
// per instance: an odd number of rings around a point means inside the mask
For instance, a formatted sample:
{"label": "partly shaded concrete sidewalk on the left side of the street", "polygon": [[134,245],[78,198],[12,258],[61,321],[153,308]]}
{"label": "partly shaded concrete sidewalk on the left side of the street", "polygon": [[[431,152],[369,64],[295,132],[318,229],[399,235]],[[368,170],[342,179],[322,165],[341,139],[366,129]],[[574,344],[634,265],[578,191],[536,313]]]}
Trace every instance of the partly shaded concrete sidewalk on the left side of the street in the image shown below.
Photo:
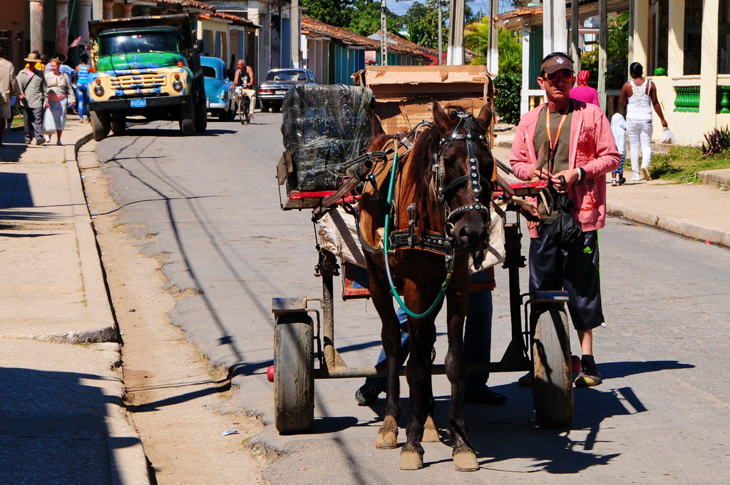
{"label": "partly shaded concrete sidewalk on the left side of the street", "polygon": [[0,148],[1,484],[149,483],[75,159],[90,131]]}

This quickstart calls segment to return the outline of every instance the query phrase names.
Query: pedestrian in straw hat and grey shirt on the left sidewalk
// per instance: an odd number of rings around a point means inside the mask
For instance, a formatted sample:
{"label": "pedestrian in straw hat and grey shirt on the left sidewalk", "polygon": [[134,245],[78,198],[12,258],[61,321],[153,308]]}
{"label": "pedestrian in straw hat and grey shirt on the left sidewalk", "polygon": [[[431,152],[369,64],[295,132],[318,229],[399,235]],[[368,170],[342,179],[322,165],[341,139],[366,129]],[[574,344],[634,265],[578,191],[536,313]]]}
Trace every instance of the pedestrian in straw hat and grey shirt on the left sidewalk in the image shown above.
{"label": "pedestrian in straw hat and grey shirt on the left sidewalk", "polygon": [[36,139],[36,145],[43,145],[43,105],[45,104],[45,75],[36,69],[36,59],[24,59],[25,69],[18,72],[18,86],[20,87],[20,106],[23,107],[23,125],[25,126],[26,145]]}

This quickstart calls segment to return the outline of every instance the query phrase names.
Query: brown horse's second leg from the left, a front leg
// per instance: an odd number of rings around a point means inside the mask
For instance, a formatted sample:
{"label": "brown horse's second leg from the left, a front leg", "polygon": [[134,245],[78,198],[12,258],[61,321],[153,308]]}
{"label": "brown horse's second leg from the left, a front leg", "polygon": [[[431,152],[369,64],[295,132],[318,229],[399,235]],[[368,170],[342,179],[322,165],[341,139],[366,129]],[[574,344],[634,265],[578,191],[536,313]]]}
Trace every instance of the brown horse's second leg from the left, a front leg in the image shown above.
{"label": "brown horse's second leg from the left, a front leg", "polygon": [[[411,280],[406,281],[406,301],[412,302],[412,309],[417,311],[425,308],[418,301],[415,285]],[[409,298],[410,297],[410,298]],[[426,296],[428,297],[428,296]],[[428,305],[428,304],[427,304]],[[418,470],[423,468],[423,429],[426,418],[432,411],[431,389],[431,351],[436,341],[436,327],[434,326],[434,311],[426,318],[408,318],[408,332],[410,334],[410,356],[406,366],[408,381],[408,423],[406,425],[406,443],[401,449],[401,470]]]}

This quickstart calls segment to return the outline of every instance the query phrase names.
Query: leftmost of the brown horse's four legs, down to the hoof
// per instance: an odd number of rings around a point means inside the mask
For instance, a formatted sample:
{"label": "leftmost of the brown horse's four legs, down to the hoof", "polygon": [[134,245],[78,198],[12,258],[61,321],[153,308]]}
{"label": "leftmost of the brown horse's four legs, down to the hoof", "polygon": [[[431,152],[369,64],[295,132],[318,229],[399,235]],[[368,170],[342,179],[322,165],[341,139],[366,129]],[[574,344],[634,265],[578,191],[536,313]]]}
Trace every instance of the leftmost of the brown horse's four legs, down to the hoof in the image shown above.
{"label": "leftmost of the brown horse's four legs, down to the hoof", "polygon": [[377,432],[375,447],[391,449],[398,446],[398,420],[401,417],[398,362],[401,346],[400,325],[396,312],[393,310],[393,298],[383,268],[374,264],[369,255],[366,256],[366,259],[368,260],[370,277],[370,296],[378,315],[380,315],[380,320],[383,322],[380,337],[383,339],[386,369],[385,416],[383,416],[383,424]]}

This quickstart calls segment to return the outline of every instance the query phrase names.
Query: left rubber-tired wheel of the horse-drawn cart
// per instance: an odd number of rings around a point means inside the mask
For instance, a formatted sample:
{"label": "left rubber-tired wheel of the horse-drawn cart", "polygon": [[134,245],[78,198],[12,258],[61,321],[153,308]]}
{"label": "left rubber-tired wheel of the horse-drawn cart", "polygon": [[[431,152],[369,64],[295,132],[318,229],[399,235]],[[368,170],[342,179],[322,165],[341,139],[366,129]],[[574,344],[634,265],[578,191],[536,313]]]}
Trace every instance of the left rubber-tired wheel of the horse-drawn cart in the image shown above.
{"label": "left rubber-tired wheel of the horse-drawn cart", "polygon": [[286,435],[308,431],[314,419],[312,318],[285,313],[274,326],[274,424]]}

